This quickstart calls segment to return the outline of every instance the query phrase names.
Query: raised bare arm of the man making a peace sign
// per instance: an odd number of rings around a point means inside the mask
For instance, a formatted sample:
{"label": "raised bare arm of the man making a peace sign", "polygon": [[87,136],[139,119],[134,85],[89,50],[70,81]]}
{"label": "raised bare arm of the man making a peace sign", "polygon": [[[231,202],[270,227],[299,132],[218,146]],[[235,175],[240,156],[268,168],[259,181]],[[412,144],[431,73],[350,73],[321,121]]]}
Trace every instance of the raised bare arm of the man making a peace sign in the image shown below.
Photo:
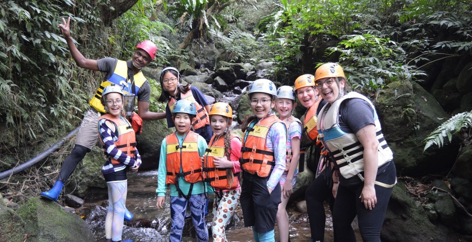
{"label": "raised bare arm of the man making a peace sign", "polygon": [[74,61],[76,61],[77,66],[89,70],[99,70],[97,60],[86,59],[74,44],[74,40],[70,36],[70,17],[67,19],[67,22],[62,18],[62,22],[63,24],[59,24],[58,28],[60,28],[64,39],[67,41],[70,54],[72,55],[72,58],[74,58]]}

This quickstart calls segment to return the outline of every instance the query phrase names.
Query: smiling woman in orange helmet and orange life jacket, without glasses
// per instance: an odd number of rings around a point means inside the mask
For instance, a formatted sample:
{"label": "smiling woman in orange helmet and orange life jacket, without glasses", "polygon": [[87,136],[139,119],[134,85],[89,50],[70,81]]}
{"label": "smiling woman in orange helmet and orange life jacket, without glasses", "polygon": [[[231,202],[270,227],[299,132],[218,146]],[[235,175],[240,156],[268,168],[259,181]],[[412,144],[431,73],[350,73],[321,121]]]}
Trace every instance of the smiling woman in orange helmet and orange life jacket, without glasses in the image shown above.
{"label": "smiling woman in orange helmet and orange life jacket, without glasses", "polygon": [[[306,204],[309,205],[306,209],[310,221],[312,242],[323,242],[326,225],[326,213],[323,202],[328,200],[329,208],[332,212],[334,197],[331,195],[331,167],[327,165],[323,156],[320,157],[321,144],[317,142],[318,130],[316,129],[316,124],[318,120],[316,115],[327,102],[320,97],[319,90],[315,87],[315,77],[311,74],[305,74],[296,78],[295,93],[300,103],[307,108],[301,118],[304,134],[302,143],[305,153],[300,156],[300,161],[303,164],[305,154],[308,154],[307,166],[316,173],[315,180],[305,191]],[[335,233],[334,242],[337,241]]]}

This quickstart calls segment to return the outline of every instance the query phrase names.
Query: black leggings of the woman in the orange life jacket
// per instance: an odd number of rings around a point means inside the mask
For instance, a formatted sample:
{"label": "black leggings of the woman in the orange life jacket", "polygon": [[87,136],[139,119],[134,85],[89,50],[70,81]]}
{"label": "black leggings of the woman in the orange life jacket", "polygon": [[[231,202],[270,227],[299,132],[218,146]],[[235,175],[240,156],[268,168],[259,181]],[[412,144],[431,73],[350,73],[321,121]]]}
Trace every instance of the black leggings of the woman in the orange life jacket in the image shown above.
{"label": "black leggings of the woman in the orange life jacket", "polygon": [[[328,185],[332,178],[329,175],[330,173],[321,173],[305,191],[306,210],[313,241],[324,241],[326,214],[323,201],[328,200],[329,209],[331,213],[333,212],[334,197],[332,187]],[[334,241],[337,242],[336,233],[334,233]]]}

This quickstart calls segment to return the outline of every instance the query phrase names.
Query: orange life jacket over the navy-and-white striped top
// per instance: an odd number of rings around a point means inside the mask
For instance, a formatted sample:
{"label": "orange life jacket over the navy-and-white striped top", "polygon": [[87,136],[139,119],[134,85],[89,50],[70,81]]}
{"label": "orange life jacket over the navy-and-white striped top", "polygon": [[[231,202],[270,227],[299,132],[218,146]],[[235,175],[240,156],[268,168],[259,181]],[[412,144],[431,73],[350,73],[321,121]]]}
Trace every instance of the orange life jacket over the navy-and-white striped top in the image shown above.
{"label": "orange life jacket over the navy-and-white striped top", "polygon": [[[131,124],[126,119],[119,119],[110,113],[101,115],[99,120],[102,119],[111,121],[115,124],[116,130],[118,131],[118,141],[114,142],[115,147],[121,150],[121,152],[127,156],[134,158],[136,153],[136,137],[135,131],[133,130],[133,127],[131,127]],[[102,147],[105,147],[102,139],[100,139],[100,143]],[[105,158],[110,158],[111,164],[119,164],[118,160],[108,156],[107,150],[105,148],[103,148],[103,154],[105,155]]]}

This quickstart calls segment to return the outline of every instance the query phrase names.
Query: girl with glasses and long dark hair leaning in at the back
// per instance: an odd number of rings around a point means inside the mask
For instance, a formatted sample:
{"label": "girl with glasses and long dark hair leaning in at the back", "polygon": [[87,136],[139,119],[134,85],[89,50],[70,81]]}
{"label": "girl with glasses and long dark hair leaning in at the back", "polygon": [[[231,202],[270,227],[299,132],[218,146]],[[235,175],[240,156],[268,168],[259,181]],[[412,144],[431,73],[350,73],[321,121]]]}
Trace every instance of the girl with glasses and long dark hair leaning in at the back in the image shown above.
{"label": "girl with glasses and long dark hair leaning in at the back", "polygon": [[167,118],[168,128],[175,127],[170,110],[172,110],[178,100],[187,99],[194,103],[197,108],[197,116],[192,123],[195,133],[205,138],[207,143],[210,142],[211,136],[213,136],[208,117],[210,105],[202,92],[197,87],[190,86],[189,84],[183,86],[182,76],[174,67],[162,69],[160,72],[160,86],[162,86],[162,92],[158,101],[161,103],[167,102],[165,115],[160,116],[160,118],[164,118],[164,116]]}

